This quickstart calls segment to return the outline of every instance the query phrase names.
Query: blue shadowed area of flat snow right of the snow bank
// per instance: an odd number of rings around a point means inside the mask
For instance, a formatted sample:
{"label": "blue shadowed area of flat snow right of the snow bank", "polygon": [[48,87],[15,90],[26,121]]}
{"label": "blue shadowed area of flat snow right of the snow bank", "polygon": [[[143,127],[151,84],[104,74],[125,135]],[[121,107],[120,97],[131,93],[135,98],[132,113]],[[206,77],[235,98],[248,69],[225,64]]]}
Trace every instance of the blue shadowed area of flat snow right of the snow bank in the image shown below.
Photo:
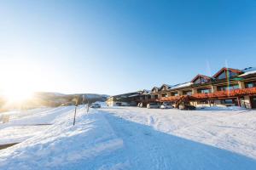
{"label": "blue shadowed area of flat snow right of the snow bank", "polygon": [[122,149],[79,161],[66,169],[207,169],[254,170],[256,160],[228,150],[161,133],[137,122],[105,113]]}

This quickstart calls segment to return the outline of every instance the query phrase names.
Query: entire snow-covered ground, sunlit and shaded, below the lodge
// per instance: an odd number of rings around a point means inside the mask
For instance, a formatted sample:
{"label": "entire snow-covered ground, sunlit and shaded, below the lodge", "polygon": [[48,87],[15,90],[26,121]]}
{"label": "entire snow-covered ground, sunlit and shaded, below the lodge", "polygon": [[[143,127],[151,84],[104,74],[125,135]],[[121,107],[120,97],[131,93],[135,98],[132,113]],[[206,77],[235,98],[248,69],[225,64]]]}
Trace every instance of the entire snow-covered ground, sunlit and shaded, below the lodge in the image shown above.
{"label": "entire snow-covered ground, sunlit and shaded, below the lodge", "polygon": [[[73,106],[6,112],[0,169],[256,169],[256,111]],[[44,125],[42,125],[44,124]]]}

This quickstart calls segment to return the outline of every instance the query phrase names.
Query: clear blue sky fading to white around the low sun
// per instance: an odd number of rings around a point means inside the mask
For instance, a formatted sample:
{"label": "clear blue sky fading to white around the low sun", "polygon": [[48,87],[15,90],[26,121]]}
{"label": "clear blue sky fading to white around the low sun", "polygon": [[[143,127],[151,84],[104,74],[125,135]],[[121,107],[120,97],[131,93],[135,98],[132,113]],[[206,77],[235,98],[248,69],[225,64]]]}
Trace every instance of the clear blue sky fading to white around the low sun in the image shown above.
{"label": "clear blue sky fading to white around the low sun", "polygon": [[2,75],[40,91],[188,82],[226,64],[256,66],[256,1],[0,0],[0,59]]}

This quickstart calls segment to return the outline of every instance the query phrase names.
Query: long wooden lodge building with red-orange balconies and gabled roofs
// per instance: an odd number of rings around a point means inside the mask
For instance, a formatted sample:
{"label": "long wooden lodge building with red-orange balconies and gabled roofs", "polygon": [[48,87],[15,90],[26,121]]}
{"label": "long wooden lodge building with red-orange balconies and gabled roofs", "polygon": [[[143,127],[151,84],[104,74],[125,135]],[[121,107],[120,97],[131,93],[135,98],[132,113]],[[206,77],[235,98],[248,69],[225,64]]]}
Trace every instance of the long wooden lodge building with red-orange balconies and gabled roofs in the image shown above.
{"label": "long wooden lodge building with red-orange balconies and gabled roofs", "polygon": [[[121,98],[125,97],[125,98]],[[119,99],[119,101],[118,101]],[[127,105],[152,102],[170,102],[177,104],[180,100],[189,100],[194,106],[241,106],[256,108],[256,68],[244,70],[222,68],[212,77],[197,75],[191,82],[177,85],[163,84],[151,91],[141,90],[131,94],[120,94],[108,98],[108,105],[125,101]]]}

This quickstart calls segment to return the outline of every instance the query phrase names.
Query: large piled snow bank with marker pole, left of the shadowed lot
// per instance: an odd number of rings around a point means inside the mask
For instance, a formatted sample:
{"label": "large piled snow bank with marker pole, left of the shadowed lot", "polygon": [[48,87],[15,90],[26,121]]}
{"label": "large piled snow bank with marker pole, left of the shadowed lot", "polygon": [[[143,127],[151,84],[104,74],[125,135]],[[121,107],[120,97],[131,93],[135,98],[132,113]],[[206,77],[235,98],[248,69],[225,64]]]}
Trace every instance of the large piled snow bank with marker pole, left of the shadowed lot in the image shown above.
{"label": "large piled snow bank with marker pole, left of the shadowed lot", "polygon": [[0,150],[0,169],[50,169],[109,153],[123,146],[102,114],[64,111],[41,133],[6,150]]}

